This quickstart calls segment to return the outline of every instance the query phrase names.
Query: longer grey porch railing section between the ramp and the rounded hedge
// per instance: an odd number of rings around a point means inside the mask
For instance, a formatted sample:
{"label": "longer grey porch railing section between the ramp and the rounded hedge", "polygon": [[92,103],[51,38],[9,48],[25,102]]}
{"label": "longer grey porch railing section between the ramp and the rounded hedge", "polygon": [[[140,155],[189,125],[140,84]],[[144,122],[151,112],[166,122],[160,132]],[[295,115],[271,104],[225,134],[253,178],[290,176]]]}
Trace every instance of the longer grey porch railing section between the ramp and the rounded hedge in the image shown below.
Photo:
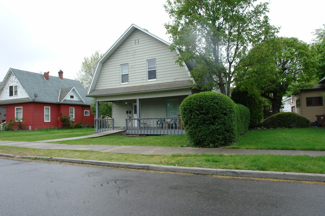
{"label": "longer grey porch railing section between the ramp and the rounded hedge", "polygon": [[126,134],[185,134],[180,117],[125,119]]}

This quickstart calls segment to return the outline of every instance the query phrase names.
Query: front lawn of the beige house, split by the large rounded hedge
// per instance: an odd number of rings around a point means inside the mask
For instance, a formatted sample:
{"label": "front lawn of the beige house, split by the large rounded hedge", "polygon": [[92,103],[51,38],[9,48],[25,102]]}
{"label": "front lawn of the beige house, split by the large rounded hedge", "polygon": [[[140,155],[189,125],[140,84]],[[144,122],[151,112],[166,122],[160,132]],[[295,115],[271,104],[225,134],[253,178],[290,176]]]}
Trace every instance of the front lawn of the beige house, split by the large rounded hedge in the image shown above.
{"label": "front lawn of the beige house, split by the large rounded hedge", "polygon": [[[106,136],[93,139],[58,141],[54,143],[70,145],[189,146],[185,135],[140,137]],[[290,128],[251,130],[245,135],[240,136],[236,143],[224,148],[325,151],[325,129]]]}

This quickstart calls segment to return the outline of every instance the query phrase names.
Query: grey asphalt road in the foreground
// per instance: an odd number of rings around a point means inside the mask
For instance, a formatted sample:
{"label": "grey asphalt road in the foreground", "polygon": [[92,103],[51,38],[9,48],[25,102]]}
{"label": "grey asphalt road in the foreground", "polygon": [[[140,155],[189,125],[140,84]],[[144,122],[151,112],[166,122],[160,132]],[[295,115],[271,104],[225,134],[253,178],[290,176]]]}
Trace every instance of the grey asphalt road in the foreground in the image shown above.
{"label": "grey asphalt road in the foreground", "polygon": [[324,216],[325,186],[0,159],[0,216]]}

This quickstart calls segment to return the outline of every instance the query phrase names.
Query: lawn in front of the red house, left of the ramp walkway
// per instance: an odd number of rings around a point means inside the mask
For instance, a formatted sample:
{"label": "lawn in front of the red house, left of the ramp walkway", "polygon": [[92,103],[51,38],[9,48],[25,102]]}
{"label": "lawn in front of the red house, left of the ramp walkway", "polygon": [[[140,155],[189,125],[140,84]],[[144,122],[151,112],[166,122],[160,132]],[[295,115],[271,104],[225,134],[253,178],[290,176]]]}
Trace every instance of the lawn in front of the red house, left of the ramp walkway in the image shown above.
{"label": "lawn in front of the red house, left of the ramp walkway", "polygon": [[0,131],[0,140],[33,142],[93,134],[93,128],[40,129],[32,131]]}

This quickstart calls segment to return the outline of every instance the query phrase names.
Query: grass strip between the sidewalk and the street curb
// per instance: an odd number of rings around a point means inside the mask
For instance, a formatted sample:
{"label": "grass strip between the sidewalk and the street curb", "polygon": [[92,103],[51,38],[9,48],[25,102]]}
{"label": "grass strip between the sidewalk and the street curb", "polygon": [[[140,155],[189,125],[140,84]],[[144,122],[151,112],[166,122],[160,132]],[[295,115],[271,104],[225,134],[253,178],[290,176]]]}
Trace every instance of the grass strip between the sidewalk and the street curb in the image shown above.
{"label": "grass strip between the sidewalk and the street curb", "polygon": [[156,164],[215,169],[261,170],[325,174],[325,156],[279,155],[135,155],[73,150],[41,150],[0,146],[14,155],[77,158],[86,160]]}

